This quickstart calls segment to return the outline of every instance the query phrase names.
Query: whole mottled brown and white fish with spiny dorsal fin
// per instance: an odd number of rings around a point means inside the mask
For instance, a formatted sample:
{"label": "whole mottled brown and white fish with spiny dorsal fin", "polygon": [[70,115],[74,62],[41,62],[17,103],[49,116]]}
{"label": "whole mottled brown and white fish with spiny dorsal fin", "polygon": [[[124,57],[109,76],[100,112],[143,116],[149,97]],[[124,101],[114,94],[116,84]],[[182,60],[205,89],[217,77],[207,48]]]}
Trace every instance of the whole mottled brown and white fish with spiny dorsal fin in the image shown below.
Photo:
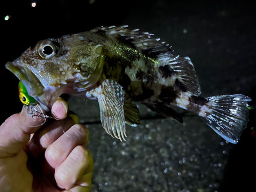
{"label": "whole mottled brown and white fish with spiny dorsal fin", "polygon": [[248,122],[251,99],[199,97],[190,59],[175,56],[168,44],[151,35],[111,26],[46,39],[6,68],[46,111],[62,93],[98,100],[102,126],[120,140],[126,137],[124,123],[140,124],[137,106],[131,102],[138,101],[179,122],[182,117],[173,105],[192,111],[224,139],[237,143]]}

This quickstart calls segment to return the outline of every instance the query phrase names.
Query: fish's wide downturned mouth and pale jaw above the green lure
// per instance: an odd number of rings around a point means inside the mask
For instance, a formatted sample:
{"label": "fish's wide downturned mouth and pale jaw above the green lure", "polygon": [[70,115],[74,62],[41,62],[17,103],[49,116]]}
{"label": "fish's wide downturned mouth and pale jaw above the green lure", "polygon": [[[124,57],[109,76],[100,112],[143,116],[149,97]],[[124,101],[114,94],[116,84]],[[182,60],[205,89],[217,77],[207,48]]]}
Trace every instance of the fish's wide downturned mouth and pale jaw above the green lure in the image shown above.
{"label": "fish's wide downturned mouth and pale jaw above the green lure", "polygon": [[5,67],[23,82],[31,97],[37,97],[44,93],[44,86],[42,86],[36,75],[24,63],[19,60],[9,61]]}

